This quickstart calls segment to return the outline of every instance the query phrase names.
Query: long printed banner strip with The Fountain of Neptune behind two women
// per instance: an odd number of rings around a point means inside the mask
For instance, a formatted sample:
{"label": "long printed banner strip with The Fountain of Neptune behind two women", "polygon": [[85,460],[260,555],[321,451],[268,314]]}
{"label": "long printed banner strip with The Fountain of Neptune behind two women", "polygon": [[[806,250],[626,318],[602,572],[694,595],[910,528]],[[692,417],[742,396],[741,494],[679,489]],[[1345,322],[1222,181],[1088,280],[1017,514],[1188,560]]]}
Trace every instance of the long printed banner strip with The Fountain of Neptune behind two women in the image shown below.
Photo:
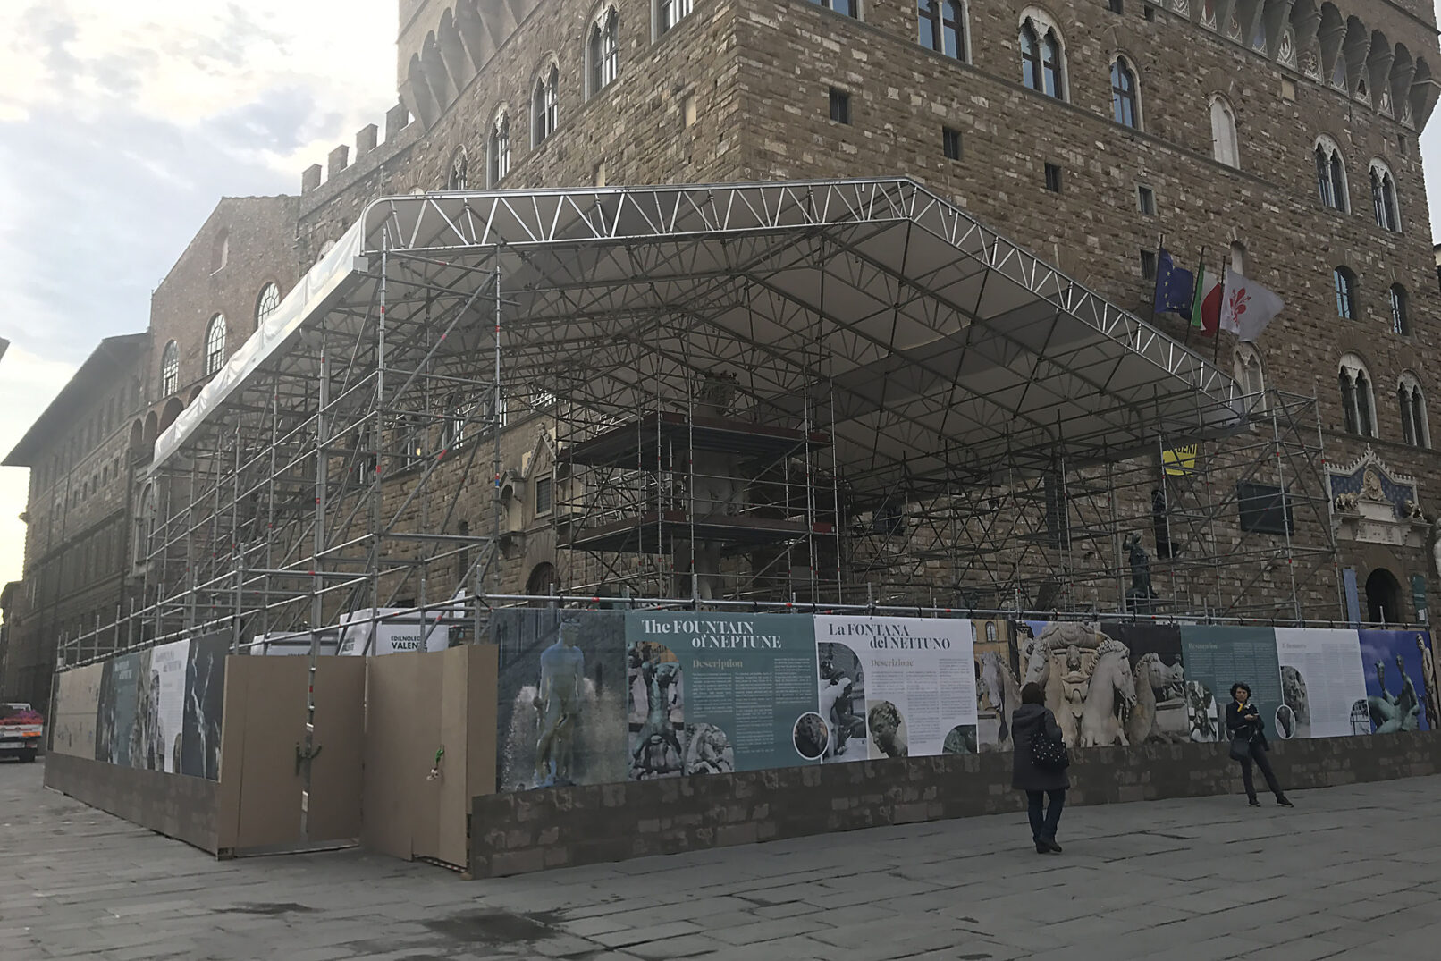
{"label": "long printed banner strip with The Fountain of Neptune behind two women", "polygon": [[494,624],[510,791],[1010,751],[1032,683],[1074,748],[1223,742],[1236,681],[1281,739],[1441,718],[1424,631],[545,609]]}

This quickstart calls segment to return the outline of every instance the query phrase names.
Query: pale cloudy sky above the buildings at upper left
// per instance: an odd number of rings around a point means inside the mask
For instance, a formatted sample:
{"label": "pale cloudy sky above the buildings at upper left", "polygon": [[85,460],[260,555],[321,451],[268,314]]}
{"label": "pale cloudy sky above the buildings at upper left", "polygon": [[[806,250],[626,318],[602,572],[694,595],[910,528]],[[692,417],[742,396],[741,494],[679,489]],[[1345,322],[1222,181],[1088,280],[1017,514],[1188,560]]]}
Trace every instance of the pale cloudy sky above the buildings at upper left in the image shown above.
{"label": "pale cloudy sky above the buildings at upper left", "polygon": [[[0,0],[0,455],[101,337],[146,328],[220,196],[295,193],[385,125],[395,32],[395,0]],[[1422,153],[1441,157],[1441,122]],[[0,468],[0,584],[26,484]]]}

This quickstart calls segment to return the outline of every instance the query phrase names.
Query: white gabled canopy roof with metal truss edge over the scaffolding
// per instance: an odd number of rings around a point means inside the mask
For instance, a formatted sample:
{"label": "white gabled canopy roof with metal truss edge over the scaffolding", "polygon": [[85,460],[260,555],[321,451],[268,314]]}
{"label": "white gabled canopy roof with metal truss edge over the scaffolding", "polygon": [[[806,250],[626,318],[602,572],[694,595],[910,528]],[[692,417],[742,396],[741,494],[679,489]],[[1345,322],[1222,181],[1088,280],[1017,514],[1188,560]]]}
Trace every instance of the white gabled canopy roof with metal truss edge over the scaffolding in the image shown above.
{"label": "white gabled canopy roof with metal truss edge over the scaffolding", "polygon": [[[303,402],[307,344],[349,339],[331,363],[378,363],[382,304],[386,365],[488,380],[497,272],[510,392],[624,416],[735,375],[741,416],[800,426],[810,405],[833,424],[859,491],[1115,460],[1244,419],[1213,365],[911,180],[437,193],[370,203],[154,464],[278,390]],[[414,333],[445,311],[444,346]]]}

